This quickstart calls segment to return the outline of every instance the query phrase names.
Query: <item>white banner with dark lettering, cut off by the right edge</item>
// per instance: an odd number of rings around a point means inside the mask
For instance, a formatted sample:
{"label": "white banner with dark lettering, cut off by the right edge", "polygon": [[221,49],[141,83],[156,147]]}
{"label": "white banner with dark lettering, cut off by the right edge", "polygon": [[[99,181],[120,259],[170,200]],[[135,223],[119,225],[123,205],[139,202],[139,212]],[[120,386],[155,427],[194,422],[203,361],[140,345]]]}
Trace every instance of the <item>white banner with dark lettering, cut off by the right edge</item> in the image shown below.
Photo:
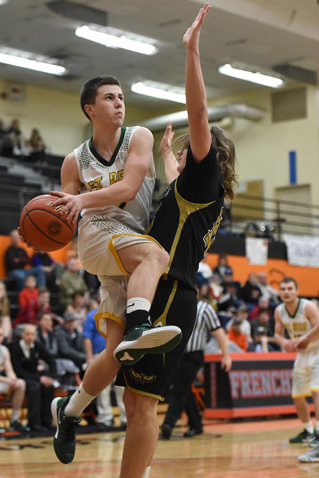
{"label": "white banner with dark lettering, cut off by the right edge", "polygon": [[289,264],[319,267],[319,237],[283,234]]}

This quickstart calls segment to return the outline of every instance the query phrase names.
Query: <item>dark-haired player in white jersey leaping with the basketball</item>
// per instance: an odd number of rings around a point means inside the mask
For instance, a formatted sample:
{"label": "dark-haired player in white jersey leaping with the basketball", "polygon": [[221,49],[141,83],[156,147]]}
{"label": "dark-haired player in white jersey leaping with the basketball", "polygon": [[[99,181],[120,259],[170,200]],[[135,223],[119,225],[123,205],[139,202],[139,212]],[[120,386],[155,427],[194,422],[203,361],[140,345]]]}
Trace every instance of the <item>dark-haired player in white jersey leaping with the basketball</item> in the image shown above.
{"label": "dark-haired player in white jersey leaping with the basketball", "polygon": [[100,76],[86,82],[81,107],[92,122],[93,138],[66,156],[63,192],[52,194],[60,197],[55,206],[64,206],[61,214],[70,221],[75,222],[82,211],[79,258],[101,282],[96,319],[103,335],[107,323],[107,341],[74,395],[52,402],[58,424],[54,449],[63,463],[74,457],[78,415],[111,383],[120,363],[135,363],[149,352],[166,353],[181,340],[179,327],[155,328],[149,321],[150,304],[170,257],[145,235],[155,182],[152,134],[146,128],[123,128],[125,106],[117,78]]}

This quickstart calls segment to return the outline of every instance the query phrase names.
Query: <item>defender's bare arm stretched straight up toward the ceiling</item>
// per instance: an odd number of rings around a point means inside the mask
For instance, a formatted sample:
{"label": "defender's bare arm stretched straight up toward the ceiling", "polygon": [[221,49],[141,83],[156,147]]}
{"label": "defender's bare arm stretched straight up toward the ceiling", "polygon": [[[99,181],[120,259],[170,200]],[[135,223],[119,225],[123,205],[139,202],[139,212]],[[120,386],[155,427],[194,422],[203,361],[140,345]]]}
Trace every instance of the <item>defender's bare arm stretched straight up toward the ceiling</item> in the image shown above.
{"label": "defender's bare arm stretched straight up toward the ceiling", "polygon": [[209,152],[212,136],[208,125],[207,98],[199,53],[199,39],[202,24],[211,5],[205,5],[198,12],[195,21],[183,37],[186,48],[186,107],[190,132],[191,151],[200,162]]}

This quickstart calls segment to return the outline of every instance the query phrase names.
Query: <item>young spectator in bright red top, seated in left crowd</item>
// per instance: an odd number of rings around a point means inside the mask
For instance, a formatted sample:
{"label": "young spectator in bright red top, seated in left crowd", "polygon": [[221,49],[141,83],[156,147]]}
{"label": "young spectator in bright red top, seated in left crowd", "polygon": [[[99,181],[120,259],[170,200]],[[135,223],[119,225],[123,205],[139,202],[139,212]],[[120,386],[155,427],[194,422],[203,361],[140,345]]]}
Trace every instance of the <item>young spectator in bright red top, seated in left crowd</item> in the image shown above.
{"label": "young spectator in bright red top, seated in left crowd", "polygon": [[38,316],[38,289],[33,275],[25,279],[25,287],[18,296],[19,312],[13,322],[13,327],[18,324],[37,325]]}

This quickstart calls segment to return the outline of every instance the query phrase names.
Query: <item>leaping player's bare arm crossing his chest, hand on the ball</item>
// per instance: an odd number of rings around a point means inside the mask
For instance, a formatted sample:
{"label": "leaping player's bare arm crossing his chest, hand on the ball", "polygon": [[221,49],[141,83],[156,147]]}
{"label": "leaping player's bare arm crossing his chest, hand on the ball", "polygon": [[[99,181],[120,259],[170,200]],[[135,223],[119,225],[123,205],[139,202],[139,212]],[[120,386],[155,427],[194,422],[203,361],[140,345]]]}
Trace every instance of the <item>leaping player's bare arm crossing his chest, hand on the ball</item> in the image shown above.
{"label": "leaping player's bare arm crossing his chest, hand on the ball", "polygon": [[[82,209],[92,207],[117,206],[132,201],[138,193],[144,178],[151,165],[153,154],[153,135],[147,128],[138,128],[130,143],[128,157],[124,167],[123,180],[99,191],[73,196],[72,194],[53,191],[51,194],[59,196],[55,206],[63,204],[64,210],[60,214],[67,214],[67,219],[76,222]],[[68,212],[67,212],[68,211]]]}

